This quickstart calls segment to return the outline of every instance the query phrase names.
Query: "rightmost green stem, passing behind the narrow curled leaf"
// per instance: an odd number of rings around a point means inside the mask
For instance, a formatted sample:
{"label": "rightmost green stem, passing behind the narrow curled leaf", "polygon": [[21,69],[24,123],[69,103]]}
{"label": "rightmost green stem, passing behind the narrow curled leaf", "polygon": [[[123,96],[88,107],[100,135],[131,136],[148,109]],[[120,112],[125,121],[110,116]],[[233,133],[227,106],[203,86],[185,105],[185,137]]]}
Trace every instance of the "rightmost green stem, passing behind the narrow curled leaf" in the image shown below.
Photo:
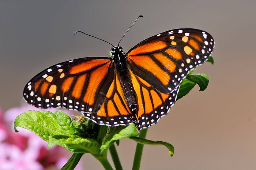
{"label": "rightmost green stem, passing behind the narrow curled leaf", "polygon": [[[142,129],[140,131],[139,137],[146,138],[146,135],[147,135],[147,129]],[[134,159],[133,159],[132,170],[140,169],[140,162],[141,162],[141,158],[142,158],[143,147],[144,147],[143,144],[137,143],[135,155],[134,155]]]}

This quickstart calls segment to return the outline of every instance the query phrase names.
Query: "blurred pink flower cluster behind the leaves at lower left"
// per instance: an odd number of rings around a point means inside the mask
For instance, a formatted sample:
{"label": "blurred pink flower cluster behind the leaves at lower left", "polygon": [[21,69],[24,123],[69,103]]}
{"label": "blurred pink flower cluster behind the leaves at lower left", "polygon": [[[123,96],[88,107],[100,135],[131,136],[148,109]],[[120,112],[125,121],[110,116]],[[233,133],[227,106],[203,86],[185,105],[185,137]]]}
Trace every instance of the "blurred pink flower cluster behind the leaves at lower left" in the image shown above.
{"label": "blurred pink flower cluster behind the leaves at lower left", "polygon": [[[14,131],[16,116],[27,110],[43,110],[33,106],[15,107],[4,114],[0,110],[0,170],[50,170],[60,169],[71,153],[61,146],[49,150],[47,142],[33,132],[17,128]],[[48,109],[55,112],[57,109]],[[76,170],[82,169],[79,163]]]}

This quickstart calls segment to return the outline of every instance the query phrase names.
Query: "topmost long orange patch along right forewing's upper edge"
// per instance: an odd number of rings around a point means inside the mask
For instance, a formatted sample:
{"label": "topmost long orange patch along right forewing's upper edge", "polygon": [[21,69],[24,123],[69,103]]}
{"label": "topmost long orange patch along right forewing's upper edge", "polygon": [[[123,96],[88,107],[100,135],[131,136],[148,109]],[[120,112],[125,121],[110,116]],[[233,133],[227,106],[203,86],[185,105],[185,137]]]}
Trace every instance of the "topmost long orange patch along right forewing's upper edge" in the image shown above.
{"label": "topmost long orange patch along right forewing's upper edge", "polygon": [[155,42],[147,43],[135,48],[134,50],[129,52],[127,56],[153,52],[153,51],[161,50],[166,47],[167,47],[167,44],[164,41],[155,41]]}

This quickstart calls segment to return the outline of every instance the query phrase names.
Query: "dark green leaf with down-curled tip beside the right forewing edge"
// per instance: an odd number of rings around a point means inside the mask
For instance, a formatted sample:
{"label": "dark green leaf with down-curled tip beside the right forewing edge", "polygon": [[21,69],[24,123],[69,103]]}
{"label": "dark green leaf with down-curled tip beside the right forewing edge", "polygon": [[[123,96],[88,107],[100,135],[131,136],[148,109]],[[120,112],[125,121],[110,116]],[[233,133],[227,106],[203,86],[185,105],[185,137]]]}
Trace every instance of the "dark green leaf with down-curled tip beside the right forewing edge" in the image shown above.
{"label": "dark green leaf with down-curled tip beside the right forewing edge", "polygon": [[204,74],[194,74],[194,75],[189,74],[189,75],[187,75],[186,79],[198,84],[200,87],[199,91],[206,90],[209,80],[210,80],[210,78]]}

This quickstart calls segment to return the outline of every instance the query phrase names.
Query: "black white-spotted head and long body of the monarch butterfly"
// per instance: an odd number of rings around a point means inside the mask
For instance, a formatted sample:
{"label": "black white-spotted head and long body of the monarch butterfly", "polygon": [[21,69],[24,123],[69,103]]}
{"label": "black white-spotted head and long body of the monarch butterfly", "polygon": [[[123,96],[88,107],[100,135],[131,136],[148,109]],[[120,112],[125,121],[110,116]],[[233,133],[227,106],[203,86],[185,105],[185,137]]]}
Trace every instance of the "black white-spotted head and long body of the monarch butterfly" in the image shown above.
{"label": "black white-spotted head and long body of the monarch butterfly", "polygon": [[137,115],[137,102],[136,102],[136,93],[132,86],[131,75],[129,72],[129,64],[127,63],[127,56],[123,51],[123,48],[116,46],[111,48],[110,52],[112,53],[112,61],[115,66],[116,73],[121,83],[121,87],[124,92],[125,100],[131,109],[133,115]]}

